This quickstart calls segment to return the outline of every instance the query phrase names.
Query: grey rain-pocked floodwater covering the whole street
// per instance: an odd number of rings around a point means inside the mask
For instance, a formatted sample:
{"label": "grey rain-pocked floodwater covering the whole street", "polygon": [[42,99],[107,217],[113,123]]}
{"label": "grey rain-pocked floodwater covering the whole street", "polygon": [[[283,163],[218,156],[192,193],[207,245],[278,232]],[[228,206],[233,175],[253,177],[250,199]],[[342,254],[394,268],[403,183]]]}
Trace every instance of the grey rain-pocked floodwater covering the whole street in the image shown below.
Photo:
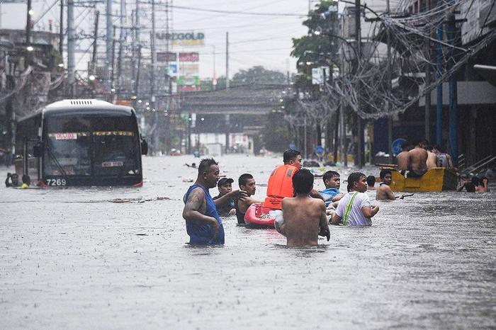
{"label": "grey rain-pocked floodwater covering the whole street", "polygon": [[[235,182],[252,173],[261,199],[281,158],[218,160]],[[192,247],[181,198],[193,161],[145,157],[142,188],[2,186],[0,328],[496,327],[494,183],[378,202],[373,227],[332,226],[318,247],[288,249],[235,217],[225,246]]]}

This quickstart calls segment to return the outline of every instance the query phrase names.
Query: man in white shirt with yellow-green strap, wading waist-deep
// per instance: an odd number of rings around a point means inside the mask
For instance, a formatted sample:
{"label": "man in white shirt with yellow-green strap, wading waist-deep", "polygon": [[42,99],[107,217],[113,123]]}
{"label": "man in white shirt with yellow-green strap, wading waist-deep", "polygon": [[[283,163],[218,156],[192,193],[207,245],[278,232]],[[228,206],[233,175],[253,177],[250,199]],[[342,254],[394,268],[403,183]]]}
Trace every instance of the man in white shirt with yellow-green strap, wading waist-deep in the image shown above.
{"label": "man in white shirt with yellow-green strap, wading waist-deep", "polygon": [[336,212],[332,215],[331,223],[343,222],[345,226],[371,226],[371,217],[377,214],[379,207],[371,205],[368,199],[367,177],[361,172],[348,176],[348,193],[339,200]]}

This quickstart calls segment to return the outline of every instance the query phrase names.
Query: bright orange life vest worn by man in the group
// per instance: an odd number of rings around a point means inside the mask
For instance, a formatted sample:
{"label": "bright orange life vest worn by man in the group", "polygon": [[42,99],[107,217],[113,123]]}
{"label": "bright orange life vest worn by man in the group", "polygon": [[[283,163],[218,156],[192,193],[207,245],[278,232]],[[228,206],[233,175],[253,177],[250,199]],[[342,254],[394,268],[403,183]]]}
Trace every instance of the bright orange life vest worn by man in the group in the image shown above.
{"label": "bright orange life vest worn by man in the group", "polygon": [[292,165],[277,166],[272,171],[263,204],[265,207],[281,210],[283,198],[294,196],[293,176],[297,171],[298,168]]}

